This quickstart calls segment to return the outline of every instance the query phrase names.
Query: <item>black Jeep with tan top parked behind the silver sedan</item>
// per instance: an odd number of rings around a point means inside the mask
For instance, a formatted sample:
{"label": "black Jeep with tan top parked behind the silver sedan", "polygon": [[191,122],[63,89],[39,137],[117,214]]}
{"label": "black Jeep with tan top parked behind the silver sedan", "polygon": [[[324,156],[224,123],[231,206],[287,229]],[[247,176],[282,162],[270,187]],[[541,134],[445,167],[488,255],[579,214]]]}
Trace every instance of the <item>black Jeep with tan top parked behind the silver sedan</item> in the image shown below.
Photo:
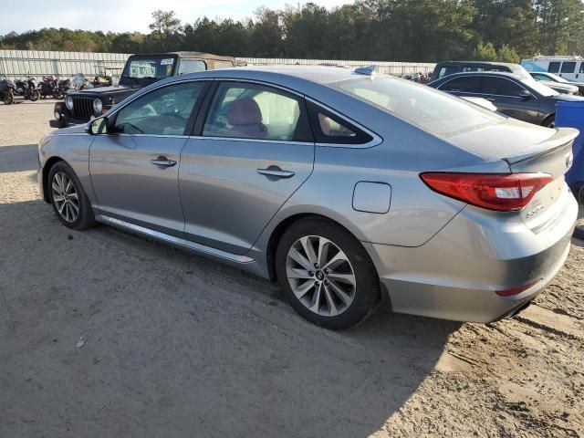
{"label": "black Jeep with tan top parked behind the silver sedan", "polygon": [[53,128],[65,128],[87,123],[139,89],[163,78],[235,65],[234,57],[220,57],[201,52],[132,55],[126,61],[117,86],[94,88],[95,83],[83,78],[83,84],[89,84],[90,87],[83,86],[80,91],[69,93],[65,101],[57,102],[54,110],[55,119],[50,120],[49,125]]}

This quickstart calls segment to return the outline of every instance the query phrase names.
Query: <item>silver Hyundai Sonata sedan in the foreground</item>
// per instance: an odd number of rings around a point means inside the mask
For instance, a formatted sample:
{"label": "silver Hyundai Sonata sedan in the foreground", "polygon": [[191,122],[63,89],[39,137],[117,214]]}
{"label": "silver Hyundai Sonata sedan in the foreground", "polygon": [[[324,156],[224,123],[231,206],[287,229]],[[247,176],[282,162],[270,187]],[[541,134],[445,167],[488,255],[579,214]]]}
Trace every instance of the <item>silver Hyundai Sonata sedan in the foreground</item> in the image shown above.
{"label": "silver Hyundai Sonata sedan in the foreground", "polygon": [[42,138],[42,196],[69,228],[110,224],[277,280],[326,328],[380,300],[437,318],[514,315],[568,255],[578,131],[372,74],[164,79]]}

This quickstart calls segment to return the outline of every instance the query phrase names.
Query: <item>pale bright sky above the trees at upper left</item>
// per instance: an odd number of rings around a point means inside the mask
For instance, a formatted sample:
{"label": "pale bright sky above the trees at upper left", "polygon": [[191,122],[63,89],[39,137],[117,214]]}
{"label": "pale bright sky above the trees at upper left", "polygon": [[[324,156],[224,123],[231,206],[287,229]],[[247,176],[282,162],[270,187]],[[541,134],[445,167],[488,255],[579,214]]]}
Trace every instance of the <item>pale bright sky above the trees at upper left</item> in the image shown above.
{"label": "pale bright sky above the trees at upper left", "polygon": [[[300,3],[308,3],[302,1]],[[351,3],[351,0],[314,0],[326,7]],[[175,11],[183,23],[197,18],[251,17],[260,6],[281,9],[294,0],[51,0],[32,2],[26,10],[15,7],[12,0],[0,0],[0,35],[42,27],[101,30],[103,32],[150,32],[151,13],[156,9]]]}

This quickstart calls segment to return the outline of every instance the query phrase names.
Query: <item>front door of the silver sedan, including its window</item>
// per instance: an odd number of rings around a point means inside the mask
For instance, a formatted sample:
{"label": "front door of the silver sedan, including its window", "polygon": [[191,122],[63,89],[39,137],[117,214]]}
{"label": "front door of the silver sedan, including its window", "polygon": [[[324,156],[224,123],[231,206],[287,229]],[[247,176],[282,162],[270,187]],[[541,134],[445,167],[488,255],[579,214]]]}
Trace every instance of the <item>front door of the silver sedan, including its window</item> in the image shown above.
{"label": "front door of the silver sedan, including its window", "polygon": [[123,107],[89,150],[99,212],[156,231],[183,235],[178,190],[181,150],[206,84],[182,82]]}

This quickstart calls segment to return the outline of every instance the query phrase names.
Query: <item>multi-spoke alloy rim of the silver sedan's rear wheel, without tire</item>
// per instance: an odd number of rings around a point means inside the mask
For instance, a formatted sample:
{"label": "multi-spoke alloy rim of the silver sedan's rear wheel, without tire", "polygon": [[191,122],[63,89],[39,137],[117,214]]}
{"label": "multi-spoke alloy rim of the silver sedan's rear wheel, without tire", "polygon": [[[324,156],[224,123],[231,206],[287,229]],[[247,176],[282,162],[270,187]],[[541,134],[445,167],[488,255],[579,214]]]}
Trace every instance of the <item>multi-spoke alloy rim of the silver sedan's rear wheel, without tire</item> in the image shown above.
{"label": "multi-spoke alloy rim of the silver sedan's rear wheel, without tire", "polygon": [[357,278],[349,257],[330,240],[318,235],[299,238],[286,260],[292,292],[308,310],[335,317],[353,302]]}

